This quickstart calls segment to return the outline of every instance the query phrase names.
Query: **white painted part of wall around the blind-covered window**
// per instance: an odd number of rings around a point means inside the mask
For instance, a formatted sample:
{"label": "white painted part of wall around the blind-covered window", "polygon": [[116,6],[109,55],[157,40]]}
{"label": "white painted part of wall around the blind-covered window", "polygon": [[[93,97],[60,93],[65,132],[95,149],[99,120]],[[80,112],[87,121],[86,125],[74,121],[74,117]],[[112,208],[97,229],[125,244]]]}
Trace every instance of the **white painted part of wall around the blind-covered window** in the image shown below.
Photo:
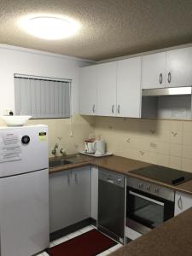
{"label": "white painted part of wall around the blind-covered window", "polygon": [[3,115],[6,109],[15,110],[14,73],[73,79],[72,113],[77,113],[79,110],[79,67],[90,65],[90,62],[0,44],[0,115]]}

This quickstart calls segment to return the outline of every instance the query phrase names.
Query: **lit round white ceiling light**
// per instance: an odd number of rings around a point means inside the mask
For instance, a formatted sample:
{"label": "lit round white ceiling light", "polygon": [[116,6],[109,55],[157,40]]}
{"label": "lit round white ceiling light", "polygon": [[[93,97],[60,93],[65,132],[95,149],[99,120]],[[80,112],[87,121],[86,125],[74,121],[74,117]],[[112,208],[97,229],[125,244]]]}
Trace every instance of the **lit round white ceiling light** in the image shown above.
{"label": "lit round white ceiling light", "polygon": [[77,21],[52,16],[23,19],[20,25],[26,32],[46,40],[69,38],[79,30],[79,23]]}

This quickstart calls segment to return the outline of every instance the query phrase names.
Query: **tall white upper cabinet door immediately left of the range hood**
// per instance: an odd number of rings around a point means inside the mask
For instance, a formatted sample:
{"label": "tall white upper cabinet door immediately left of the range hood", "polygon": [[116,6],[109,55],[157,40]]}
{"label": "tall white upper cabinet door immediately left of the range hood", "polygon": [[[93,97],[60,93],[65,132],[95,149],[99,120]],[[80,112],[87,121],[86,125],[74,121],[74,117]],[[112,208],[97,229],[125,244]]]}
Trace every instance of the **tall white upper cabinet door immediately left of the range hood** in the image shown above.
{"label": "tall white upper cabinet door immediately left of the range hood", "polygon": [[141,116],[141,57],[118,61],[117,116]]}

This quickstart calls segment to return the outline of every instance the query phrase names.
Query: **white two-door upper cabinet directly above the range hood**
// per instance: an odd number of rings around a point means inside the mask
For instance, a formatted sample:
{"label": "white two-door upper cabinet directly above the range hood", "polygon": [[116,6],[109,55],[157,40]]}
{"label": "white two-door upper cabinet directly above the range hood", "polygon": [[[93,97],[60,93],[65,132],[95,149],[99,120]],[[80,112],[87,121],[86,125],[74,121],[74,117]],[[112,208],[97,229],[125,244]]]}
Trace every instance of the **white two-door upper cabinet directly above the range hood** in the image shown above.
{"label": "white two-door upper cabinet directly above the range hood", "polygon": [[192,47],[143,56],[143,89],[192,86]]}

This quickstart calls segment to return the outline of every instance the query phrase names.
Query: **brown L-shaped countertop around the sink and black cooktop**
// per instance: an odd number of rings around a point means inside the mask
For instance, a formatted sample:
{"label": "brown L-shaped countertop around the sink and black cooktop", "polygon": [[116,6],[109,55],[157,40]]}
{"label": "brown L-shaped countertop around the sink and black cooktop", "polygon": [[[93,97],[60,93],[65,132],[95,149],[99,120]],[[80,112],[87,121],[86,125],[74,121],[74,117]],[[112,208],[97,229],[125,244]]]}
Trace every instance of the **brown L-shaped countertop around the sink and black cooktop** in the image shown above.
{"label": "brown L-shaped countertop around the sink and black cooktop", "polygon": [[120,157],[117,155],[94,158],[92,156],[86,156],[83,154],[79,154],[78,156],[77,155],[67,156],[66,159],[72,160],[73,163],[67,164],[65,166],[57,166],[57,167],[49,168],[49,173],[51,174],[54,172],[61,172],[61,171],[65,171],[65,170],[80,167],[80,166],[92,165],[92,166],[105,168],[113,172],[123,173],[130,177],[137,177],[151,183],[155,183],[170,189],[174,189],[174,190],[192,195],[192,180],[189,180],[188,182],[185,182],[185,183],[181,183],[179,185],[172,185],[172,184],[156,181],[152,178],[143,177],[143,176],[131,173],[131,171],[133,170],[137,170],[139,168],[146,167],[146,166],[152,166],[152,164],[145,163],[143,161],[132,160],[132,159]]}

